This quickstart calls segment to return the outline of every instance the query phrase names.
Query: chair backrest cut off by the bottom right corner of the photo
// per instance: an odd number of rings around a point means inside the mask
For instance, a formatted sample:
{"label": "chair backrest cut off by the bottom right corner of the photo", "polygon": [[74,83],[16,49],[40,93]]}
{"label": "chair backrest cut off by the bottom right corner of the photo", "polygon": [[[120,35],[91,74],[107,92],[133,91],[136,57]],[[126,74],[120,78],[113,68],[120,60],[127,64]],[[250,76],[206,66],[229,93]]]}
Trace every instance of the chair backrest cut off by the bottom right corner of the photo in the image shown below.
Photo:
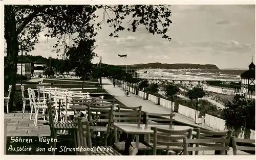
{"label": "chair backrest cut off by the bottom right corner of the photo", "polygon": [[[236,137],[231,137],[232,141],[232,148],[233,148],[233,155],[237,155],[237,150],[242,150],[242,151],[255,151],[255,139],[238,139]],[[250,146],[240,146],[237,144],[245,144],[245,143],[254,143],[254,147]]]}

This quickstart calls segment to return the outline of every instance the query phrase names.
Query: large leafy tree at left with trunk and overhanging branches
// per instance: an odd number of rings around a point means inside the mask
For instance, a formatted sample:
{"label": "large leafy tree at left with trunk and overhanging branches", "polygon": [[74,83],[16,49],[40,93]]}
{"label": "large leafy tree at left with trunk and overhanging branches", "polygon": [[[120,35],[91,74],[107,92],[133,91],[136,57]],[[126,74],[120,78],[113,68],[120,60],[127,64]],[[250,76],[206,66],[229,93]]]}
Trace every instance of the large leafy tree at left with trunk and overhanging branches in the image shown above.
{"label": "large leafy tree at left with trunk and overhanging branches", "polygon": [[[102,10],[102,20],[95,11]],[[13,106],[15,93],[17,57],[22,49],[29,52],[38,42],[39,33],[47,31],[46,37],[57,38],[53,51],[63,54],[69,48],[76,47],[83,41],[93,39],[101,29],[101,24],[108,23],[114,31],[110,37],[118,37],[119,31],[136,32],[139,25],[151,34],[167,35],[171,11],[164,5],[6,5],[5,6],[5,40],[7,44],[5,64],[5,84],[12,85],[10,108]],[[126,23],[126,18],[131,17]],[[82,42],[80,42],[82,41]],[[61,52],[61,49],[64,49]],[[81,70],[77,72],[81,73]]]}

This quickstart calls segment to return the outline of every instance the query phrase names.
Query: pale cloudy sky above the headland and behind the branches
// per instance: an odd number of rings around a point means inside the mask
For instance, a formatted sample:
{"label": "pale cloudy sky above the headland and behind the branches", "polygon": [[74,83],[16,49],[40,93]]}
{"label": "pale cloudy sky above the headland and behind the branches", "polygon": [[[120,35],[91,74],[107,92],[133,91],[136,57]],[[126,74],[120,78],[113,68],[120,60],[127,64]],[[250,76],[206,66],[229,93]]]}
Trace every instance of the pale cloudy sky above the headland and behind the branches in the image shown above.
{"label": "pale cloudy sky above the headland and behind the branches", "polygon": [[[251,56],[255,57],[254,5],[173,5],[170,10],[173,23],[167,35],[171,41],[147,33],[143,26],[136,33],[122,31],[119,38],[111,38],[113,29],[103,24],[94,51],[102,63],[114,65],[160,62],[248,68]],[[47,42],[44,33],[40,35],[36,49],[29,54],[57,58],[50,47],[56,40]],[[118,54],[127,54],[127,58],[120,59]],[[97,62],[99,57],[93,60]]]}

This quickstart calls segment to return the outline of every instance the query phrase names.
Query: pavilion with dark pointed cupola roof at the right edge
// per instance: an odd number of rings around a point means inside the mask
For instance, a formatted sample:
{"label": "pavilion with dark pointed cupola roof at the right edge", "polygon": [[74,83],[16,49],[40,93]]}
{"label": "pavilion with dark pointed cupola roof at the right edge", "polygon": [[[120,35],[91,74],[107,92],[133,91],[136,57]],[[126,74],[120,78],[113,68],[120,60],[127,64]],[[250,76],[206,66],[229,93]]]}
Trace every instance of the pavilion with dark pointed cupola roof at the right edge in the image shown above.
{"label": "pavilion with dark pointed cupola roof at the right edge", "polygon": [[241,93],[245,96],[255,95],[255,65],[251,59],[249,70],[243,72],[241,76]]}

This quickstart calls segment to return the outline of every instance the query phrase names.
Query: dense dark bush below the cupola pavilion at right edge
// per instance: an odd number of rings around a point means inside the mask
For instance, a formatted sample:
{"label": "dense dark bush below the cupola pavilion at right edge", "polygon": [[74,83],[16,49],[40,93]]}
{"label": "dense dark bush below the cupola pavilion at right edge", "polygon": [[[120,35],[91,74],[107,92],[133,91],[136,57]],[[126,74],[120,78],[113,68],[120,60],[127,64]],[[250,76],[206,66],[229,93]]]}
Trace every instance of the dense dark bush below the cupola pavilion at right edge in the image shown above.
{"label": "dense dark bush below the cupola pavilion at right edge", "polygon": [[244,138],[249,138],[249,129],[255,130],[255,100],[237,94],[232,101],[225,103],[222,117],[226,121],[226,127],[234,130],[235,136],[242,132]]}

